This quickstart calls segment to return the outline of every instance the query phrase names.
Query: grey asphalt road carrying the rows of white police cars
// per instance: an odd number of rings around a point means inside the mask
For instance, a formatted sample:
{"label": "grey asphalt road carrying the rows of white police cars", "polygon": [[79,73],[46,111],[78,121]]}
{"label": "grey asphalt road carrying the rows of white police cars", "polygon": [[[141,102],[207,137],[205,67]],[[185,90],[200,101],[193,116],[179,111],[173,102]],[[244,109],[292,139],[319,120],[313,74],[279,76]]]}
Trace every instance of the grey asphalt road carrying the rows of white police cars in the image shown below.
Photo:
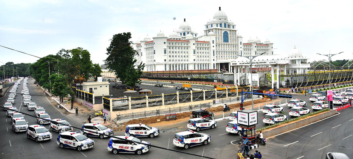
{"label": "grey asphalt road carrying the rows of white police cars", "polygon": [[[23,83],[23,82],[22,82]],[[17,92],[19,93],[22,90],[22,84],[19,85]],[[64,118],[71,125],[81,127],[82,126],[82,117],[78,118],[72,116],[72,114],[62,114],[57,108],[52,106],[49,101],[46,99],[46,96],[43,96],[38,87],[36,87],[31,80],[28,80],[28,87],[32,95],[32,100],[38,104],[38,106],[43,106],[46,109],[46,112],[49,113],[52,119],[54,118]],[[304,95],[294,95],[295,98],[300,98],[304,100],[308,100],[309,96]],[[6,98],[0,99],[0,103],[4,103]],[[271,101],[275,104],[285,102],[286,99],[279,98],[277,100]],[[267,102],[267,104],[271,103]],[[265,104],[261,104],[260,108]],[[17,95],[15,99],[15,104],[17,108],[20,108],[20,111],[25,113],[34,114],[33,111],[28,111],[26,107],[22,104],[22,99],[20,95]],[[258,106],[258,105],[255,105]],[[310,104],[307,106],[310,107]],[[288,114],[289,108],[285,107],[285,114]],[[225,116],[229,116],[230,112],[225,113]],[[217,117],[223,116],[222,113],[219,113]],[[258,124],[256,128],[262,128],[265,124],[262,123],[263,113],[258,113]],[[37,124],[36,119],[32,117],[25,116],[25,119],[28,120],[29,124]],[[291,119],[291,117],[289,117]],[[283,134],[271,139],[268,139],[268,144],[266,146],[260,146],[259,151],[262,151],[263,156],[265,158],[295,158],[300,155],[304,156],[312,156],[330,151],[331,148],[335,151],[339,151],[339,145],[345,147],[345,149],[351,148],[352,140],[348,137],[352,134],[352,124],[349,121],[352,117],[348,113],[348,111],[342,111],[341,114],[334,116],[330,119],[323,120],[316,124],[312,124],[306,126],[304,128],[291,131],[291,133]],[[342,122],[343,121],[343,122]],[[206,129],[202,130],[202,132],[211,135],[211,142],[206,146],[196,146],[191,147],[190,149],[184,150],[183,148],[175,147],[172,144],[172,139],[175,133],[180,131],[186,131],[186,122],[185,123],[177,123],[168,125],[169,128],[175,128],[174,131],[170,132],[167,130],[166,133],[161,133],[159,136],[156,136],[152,139],[150,138],[140,138],[144,141],[151,142],[152,145],[160,146],[164,148],[174,149],[183,152],[189,152],[193,154],[213,157],[213,158],[234,158],[236,155],[235,152],[238,151],[238,145],[233,145],[231,141],[238,140],[239,136],[235,134],[229,134],[225,131],[225,125],[229,122],[229,120],[220,121],[217,123],[217,127],[215,129]],[[199,158],[193,157],[183,153],[177,153],[172,151],[167,151],[158,148],[151,148],[151,151],[142,155],[135,154],[118,154],[114,155],[111,152],[107,151],[107,143],[109,141],[108,138],[98,139],[91,138],[95,141],[95,147],[92,149],[84,150],[82,152],[78,152],[75,149],[64,148],[61,149],[58,145],[56,145],[56,137],[58,133],[53,133],[53,139],[50,141],[39,142],[36,143],[34,140],[27,139],[25,133],[14,133],[11,129],[10,118],[5,115],[5,111],[3,115],[0,116],[0,133],[2,134],[0,137],[0,147],[2,147],[2,152],[0,154],[1,158],[47,158],[47,152],[50,152],[50,158],[128,158],[128,159],[140,159],[140,158],[154,158],[154,159],[164,159],[164,158]],[[342,124],[336,128],[331,129],[332,127]],[[49,129],[49,125],[44,125],[47,129]],[[166,127],[166,126],[163,126]],[[50,130],[49,130],[50,131]],[[78,130],[74,130],[78,131]],[[163,131],[163,130],[161,130]],[[311,135],[323,132],[319,135],[313,136]],[[124,131],[114,132],[114,135],[124,135]],[[291,136],[287,136],[291,135]],[[282,137],[284,136],[284,137]],[[322,138],[325,136],[324,140]],[[327,137],[326,137],[327,136]],[[345,140],[342,140],[344,137],[348,137]],[[352,137],[352,136],[351,136]],[[308,140],[308,139],[311,140]],[[292,145],[287,145],[289,143],[298,141]],[[338,141],[335,144],[335,141]],[[331,144],[331,145],[330,145]],[[317,149],[330,145],[327,148],[323,148],[320,151]],[[294,146],[294,147],[293,147]],[[296,147],[297,146],[297,147]],[[289,148],[291,147],[291,148]],[[44,150],[45,149],[45,150]],[[295,149],[295,150],[293,150]],[[314,151],[316,149],[316,151]],[[341,148],[342,149],[342,148]],[[310,150],[310,151],[309,151]],[[325,151],[325,152],[324,152]],[[251,150],[254,153],[253,150]],[[285,153],[286,152],[286,153]],[[301,153],[303,152],[303,153]],[[315,153],[312,153],[315,152]],[[319,152],[319,153],[317,153]],[[341,151],[339,151],[341,152]],[[312,153],[312,155],[310,155]],[[347,151],[348,153],[348,151]],[[306,157],[305,157],[306,158]],[[311,157],[312,158],[312,157]],[[316,158],[316,157],[314,157]]]}

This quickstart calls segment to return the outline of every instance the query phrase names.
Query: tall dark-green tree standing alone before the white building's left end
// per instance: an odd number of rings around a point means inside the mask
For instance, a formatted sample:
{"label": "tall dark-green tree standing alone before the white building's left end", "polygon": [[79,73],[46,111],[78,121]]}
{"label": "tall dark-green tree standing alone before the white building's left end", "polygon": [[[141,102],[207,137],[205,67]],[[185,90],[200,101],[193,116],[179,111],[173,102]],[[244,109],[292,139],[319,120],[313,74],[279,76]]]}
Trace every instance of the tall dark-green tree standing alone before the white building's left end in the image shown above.
{"label": "tall dark-green tree standing alone before the white building's left end", "polygon": [[[136,83],[140,82],[139,77],[142,75],[144,64],[140,64],[137,69],[134,68],[137,55],[132,47],[131,33],[120,33],[113,35],[110,46],[107,48],[107,59],[104,63],[107,65],[109,71],[115,72],[117,78],[128,86],[135,87]],[[139,70],[140,69],[140,70]]]}

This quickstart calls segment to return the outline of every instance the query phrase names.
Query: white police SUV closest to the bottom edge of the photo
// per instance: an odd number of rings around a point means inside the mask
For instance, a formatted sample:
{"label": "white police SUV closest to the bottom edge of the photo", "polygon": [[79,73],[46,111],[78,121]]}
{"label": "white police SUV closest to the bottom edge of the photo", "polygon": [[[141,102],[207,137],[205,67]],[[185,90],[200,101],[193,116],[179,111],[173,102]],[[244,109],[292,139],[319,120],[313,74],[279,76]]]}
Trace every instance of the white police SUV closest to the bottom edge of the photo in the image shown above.
{"label": "white police SUV closest to the bottom edge of the photo", "polygon": [[[138,155],[148,152],[151,149],[151,146],[149,142],[142,141],[140,139],[137,139],[136,137],[133,136],[115,136],[120,139],[126,139],[126,140],[120,140],[116,139],[113,137],[110,137],[109,143],[108,143],[108,151],[113,152],[113,154],[117,153],[136,153]],[[139,142],[139,143],[136,143]],[[144,144],[140,144],[144,143]]]}

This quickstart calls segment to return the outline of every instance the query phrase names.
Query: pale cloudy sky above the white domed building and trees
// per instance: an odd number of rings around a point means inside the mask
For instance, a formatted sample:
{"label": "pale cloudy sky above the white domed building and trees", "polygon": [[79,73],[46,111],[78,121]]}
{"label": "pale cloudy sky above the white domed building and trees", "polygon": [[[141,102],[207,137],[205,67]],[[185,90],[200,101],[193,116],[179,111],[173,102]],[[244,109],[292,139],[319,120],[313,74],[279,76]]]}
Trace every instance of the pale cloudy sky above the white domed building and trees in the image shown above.
{"label": "pale cloudy sky above the white domed building and trees", "polygon": [[[275,54],[287,55],[294,45],[310,61],[316,53],[353,59],[352,0],[252,1],[119,1],[0,0],[0,45],[44,57],[60,49],[82,47],[93,63],[103,64],[114,34],[131,32],[131,41],[162,30],[168,36],[186,18],[202,33],[221,7],[236,24],[244,42],[250,37],[274,43]],[[176,17],[174,20],[173,17]],[[0,47],[1,62],[34,63],[38,58]]]}

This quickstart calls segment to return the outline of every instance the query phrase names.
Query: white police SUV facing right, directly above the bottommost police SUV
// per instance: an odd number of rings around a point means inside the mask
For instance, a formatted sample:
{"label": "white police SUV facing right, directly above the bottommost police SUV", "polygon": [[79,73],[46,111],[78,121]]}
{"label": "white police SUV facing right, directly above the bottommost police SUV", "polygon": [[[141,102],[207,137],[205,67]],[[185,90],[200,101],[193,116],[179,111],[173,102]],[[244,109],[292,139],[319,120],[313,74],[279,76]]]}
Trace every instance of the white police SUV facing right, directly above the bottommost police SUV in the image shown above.
{"label": "white police SUV facing right, directly above the bottommost police SUV", "polygon": [[155,137],[159,135],[159,129],[145,124],[131,124],[126,126],[125,136],[132,137]]}

